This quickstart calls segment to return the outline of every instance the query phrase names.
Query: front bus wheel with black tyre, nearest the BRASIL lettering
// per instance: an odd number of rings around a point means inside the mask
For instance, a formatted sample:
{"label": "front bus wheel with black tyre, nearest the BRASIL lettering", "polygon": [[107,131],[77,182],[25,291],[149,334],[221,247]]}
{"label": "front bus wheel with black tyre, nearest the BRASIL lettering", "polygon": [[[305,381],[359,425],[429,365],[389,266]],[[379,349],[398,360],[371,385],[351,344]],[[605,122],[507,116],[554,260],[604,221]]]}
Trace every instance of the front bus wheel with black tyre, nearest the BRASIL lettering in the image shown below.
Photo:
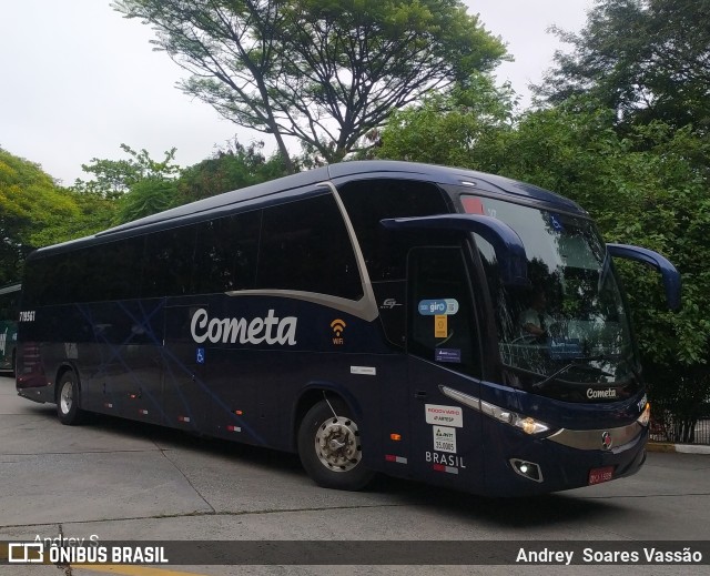
{"label": "front bus wheel with black tyre, nearest the BRASIL lettering", "polygon": [[358,491],[374,476],[362,462],[357,424],[339,402],[321,401],[307,412],[298,428],[298,455],[308,476],[324,488]]}

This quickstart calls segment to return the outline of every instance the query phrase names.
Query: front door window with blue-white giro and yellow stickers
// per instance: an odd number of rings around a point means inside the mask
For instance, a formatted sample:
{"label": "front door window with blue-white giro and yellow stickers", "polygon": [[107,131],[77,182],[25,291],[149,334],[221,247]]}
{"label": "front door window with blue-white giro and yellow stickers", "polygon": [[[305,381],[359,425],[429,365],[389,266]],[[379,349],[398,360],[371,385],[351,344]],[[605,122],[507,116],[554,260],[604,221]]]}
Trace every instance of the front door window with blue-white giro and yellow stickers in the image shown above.
{"label": "front door window with blue-white giro and yellow stickers", "polygon": [[479,375],[479,338],[462,251],[414,249],[408,284],[408,351],[452,370]]}

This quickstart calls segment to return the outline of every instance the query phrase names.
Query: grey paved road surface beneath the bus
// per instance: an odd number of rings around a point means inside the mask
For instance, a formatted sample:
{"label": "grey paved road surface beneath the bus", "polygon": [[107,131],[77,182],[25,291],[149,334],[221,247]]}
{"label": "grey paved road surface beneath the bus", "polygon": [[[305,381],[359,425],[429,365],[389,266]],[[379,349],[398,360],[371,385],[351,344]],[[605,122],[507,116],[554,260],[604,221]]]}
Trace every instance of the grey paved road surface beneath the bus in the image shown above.
{"label": "grey paved road surface beneath the bus", "polygon": [[[639,574],[638,566],[361,566],[348,540],[710,539],[710,456],[649,454],[643,469],[590,488],[486,499],[378,479],[367,492],[316,487],[297,457],[108,417],[62,426],[54,406],[19,398],[0,377],[0,540],[95,535],[105,540],[320,540],[355,566],[118,566],[112,574]],[[560,544],[561,543],[561,544]],[[539,546],[538,546],[539,547]],[[325,549],[325,548],[324,548]],[[296,545],[307,564],[312,547]],[[301,557],[301,556],[300,556]],[[446,557],[442,558],[446,564]],[[65,568],[77,576],[108,567]],[[181,573],[182,573],[181,572]],[[643,574],[707,574],[650,566]],[[0,566],[4,575],[55,575],[54,566]]]}

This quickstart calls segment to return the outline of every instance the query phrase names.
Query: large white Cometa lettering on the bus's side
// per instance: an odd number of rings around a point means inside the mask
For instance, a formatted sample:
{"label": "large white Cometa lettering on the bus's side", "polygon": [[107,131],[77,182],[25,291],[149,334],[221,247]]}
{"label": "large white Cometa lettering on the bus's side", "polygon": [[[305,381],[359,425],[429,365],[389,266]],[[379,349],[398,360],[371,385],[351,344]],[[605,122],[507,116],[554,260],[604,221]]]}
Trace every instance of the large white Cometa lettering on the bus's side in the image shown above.
{"label": "large white Cometa lettering on the bus's side", "polygon": [[197,310],[192,316],[190,331],[192,340],[197,344],[210,341],[212,344],[296,344],[295,316],[276,317],[270,310],[266,317],[246,319],[210,319],[207,311]]}

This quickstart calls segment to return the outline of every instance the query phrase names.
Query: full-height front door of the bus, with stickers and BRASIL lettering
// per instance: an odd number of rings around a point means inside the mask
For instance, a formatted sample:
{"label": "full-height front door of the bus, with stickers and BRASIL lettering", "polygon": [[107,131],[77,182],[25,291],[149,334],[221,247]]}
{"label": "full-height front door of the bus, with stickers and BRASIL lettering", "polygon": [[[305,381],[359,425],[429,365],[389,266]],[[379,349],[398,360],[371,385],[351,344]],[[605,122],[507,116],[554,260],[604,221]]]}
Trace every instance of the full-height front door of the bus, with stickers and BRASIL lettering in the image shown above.
{"label": "full-height front door of the bus, with stickers and BRASIL lettering", "polygon": [[458,247],[410,252],[407,348],[412,463],[426,482],[483,487],[480,414],[446,395],[478,397],[478,330],[464,254]]}

